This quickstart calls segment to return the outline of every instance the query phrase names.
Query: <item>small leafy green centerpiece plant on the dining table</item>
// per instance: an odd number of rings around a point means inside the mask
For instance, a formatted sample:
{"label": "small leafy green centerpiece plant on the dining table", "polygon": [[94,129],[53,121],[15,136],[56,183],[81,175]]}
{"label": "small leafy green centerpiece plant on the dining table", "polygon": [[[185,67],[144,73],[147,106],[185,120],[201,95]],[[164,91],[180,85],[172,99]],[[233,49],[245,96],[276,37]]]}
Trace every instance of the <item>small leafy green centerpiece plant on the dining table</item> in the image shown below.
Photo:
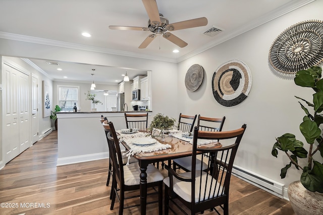
{"label": "small leafy green centerpiece plant on the dining table", "polygon": [[[148,128],[148,131],[152,133],[154,129],[159,129],[160,134],[164,134],[166,129],[171,129],[175,125],[176,120],[172,117],[165,116],[164,114],[157,113]],[[153,135],[153,134],[152,134]]]}

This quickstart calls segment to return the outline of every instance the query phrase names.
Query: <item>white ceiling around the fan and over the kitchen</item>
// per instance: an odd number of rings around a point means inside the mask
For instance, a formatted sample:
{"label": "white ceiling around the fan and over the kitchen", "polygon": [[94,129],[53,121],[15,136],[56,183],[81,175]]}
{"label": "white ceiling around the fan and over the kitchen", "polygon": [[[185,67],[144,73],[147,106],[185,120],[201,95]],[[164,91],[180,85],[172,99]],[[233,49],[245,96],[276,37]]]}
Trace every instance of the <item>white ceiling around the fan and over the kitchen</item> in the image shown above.
{"label": "white ceiling around the fan and over the kitchen", "polygon": [[[106,53],[118,53],[148,59],[180,62],[214,45],[244,33],[265,22],[295,10],[313,0],[156,0],[160,14],[170,23],[206,17],[202,27],[173,31],[188,45],[179,48],[163,37],[155,38],[145,49],[139,49],[150,31],[111,30],[110,25],[147,27],[149,20],[140,0],[0,0],[0,37],[66,47],[81,47]],[[203,33],[212,27],[222,30],[215,36]],[[88,32],[92,37],[83,37]],[[179,49],[179,53],[173,53]],[[28,57],[28,56],[26,56]],[[127,71],[132,79],[138,71],[100,65],[30,59],[52,80],[115,84]]]}

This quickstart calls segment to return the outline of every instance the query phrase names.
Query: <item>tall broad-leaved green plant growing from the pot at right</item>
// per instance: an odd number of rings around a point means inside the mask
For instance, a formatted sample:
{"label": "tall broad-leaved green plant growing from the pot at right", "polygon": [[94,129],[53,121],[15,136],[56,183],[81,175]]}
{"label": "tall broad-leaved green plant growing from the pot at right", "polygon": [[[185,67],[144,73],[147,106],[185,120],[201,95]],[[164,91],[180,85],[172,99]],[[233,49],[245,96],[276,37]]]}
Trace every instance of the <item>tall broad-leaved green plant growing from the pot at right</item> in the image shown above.
{"label": "tall broad-leaved green plant growing from the pot at right", "polygon": [[[299,128],[306,142],[309,144],[309,152],[303,148],[303,142],[297,140],[294,134],[285,133],[282,136],[276,138],[276,142],[273,146],[272,155],[277,158],[278,150],[283,151],[290,163],[281,170],[281,178],[285,178],[287,170],[294,165],[296,169],[301,169],[302,174],[300,181],[303,186],[310,191],[317,191],[323,193],[323,164],[319,162],[323,158],[323,137],[321,135],[322,130],[319,127],[323,123],[323,115],[320,114],[323,111],[323,79],[321,79],[322,68],[319,66],[312,66],[307,70],[300,70],[296,73],[294,82],[300,87],[309,87],[314,90],[313,101],[308,102],[302,98],[295,96],[297,99],[305,102],[309,106],[309,111],[301,102],[299,102],[301,108],[305,112],[303,122]],[[289,152],[291,154],[289,154]],[[314,154],[317,155],[317,159],[314,159]],[[298,158],[307,158],[307,165],[301,167],[298,163]]]}

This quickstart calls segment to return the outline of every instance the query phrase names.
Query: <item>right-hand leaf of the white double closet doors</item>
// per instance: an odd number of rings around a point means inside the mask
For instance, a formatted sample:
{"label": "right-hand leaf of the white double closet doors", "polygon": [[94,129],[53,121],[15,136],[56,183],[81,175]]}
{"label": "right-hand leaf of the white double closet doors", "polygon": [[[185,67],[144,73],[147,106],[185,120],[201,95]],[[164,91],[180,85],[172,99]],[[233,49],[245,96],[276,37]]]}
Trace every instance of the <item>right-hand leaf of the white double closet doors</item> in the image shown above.
{"label": "right-hand leaf of the white double closet doors", "polygon": [[19,153],[30,147],[29,76],[19,73]]}

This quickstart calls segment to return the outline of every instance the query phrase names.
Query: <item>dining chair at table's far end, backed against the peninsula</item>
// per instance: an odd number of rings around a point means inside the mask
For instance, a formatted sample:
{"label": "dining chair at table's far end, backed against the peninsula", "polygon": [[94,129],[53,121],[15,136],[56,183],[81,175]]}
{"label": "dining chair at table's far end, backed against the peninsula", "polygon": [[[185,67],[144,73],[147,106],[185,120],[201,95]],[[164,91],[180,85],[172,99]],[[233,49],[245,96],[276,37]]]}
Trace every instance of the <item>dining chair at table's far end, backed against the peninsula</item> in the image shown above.
{"label": "dining chair at table's far end, backed against the peninsula", "polygon": [[139,131],[147,131],[148,112],[144,114],[125,113],[127,128],[138,128]]}

